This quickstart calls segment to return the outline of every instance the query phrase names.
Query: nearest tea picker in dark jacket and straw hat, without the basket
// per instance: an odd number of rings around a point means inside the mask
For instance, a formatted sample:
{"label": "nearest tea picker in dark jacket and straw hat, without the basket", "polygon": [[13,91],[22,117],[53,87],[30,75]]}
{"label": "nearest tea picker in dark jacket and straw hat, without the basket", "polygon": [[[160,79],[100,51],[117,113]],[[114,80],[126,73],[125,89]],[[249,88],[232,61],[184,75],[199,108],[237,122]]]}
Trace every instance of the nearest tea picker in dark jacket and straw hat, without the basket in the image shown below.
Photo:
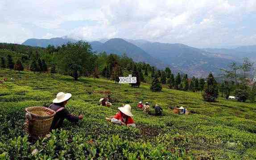
{"label": "nearest tea picker in dark jacket and straw hat, without the basket", "polygon": [[65,108],[65,105],[71,96],[72,95],[70,93],[59,92],[56,98],[53,100],[53,104],[51,104],[49,108],[54,110],[56,114],[54,116],[51,129],[59,128],[62,125],[64,119],[67,119],[70,122],[78,122],[79,120],[83,119],[83,115],[74,116],[73,114],[70,114],[70,112],[68,112],[68,110]]}

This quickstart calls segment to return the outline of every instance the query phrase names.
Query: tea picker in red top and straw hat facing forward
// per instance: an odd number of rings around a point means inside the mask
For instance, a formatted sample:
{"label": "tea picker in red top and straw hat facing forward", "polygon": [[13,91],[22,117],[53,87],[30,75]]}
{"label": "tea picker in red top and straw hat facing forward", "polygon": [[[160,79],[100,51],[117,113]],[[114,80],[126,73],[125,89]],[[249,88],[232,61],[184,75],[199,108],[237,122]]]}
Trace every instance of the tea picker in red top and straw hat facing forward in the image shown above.
{"label": "tea picker in red top and straw hat facing forward", "polygon": [[118,109],[120,112],[116,113],[115,116],[106,117],[106,120],[111,121],[113,124],[136,127],[135,121],[132,118],[132,107],[130,104],[125,104],[124,107],[119,107]]}

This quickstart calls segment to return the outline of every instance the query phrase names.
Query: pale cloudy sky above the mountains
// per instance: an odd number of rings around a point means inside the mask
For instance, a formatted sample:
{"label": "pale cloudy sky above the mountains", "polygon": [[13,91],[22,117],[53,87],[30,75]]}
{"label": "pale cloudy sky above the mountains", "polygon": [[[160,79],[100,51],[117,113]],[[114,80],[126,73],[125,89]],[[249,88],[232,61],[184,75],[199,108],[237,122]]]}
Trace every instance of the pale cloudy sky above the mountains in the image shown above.
{"label": "pale cloudy sky above the mountains", "polygon": [[256,0],[0,0],[0,42],[69,36],[256,44]]}

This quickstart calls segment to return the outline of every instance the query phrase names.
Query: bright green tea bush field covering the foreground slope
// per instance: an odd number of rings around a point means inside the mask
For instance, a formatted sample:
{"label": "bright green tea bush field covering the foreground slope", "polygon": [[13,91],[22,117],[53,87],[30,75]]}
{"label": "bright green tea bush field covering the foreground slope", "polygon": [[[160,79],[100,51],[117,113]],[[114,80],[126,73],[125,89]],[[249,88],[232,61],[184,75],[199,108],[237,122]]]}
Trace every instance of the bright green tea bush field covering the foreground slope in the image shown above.
{"label": "bright green tea bush field covering the foreground slope", "polygon": [[[131,88],[111,80],[0,70],[0,159],[256,159],[256,106],[219,98],[202,101],[201,93],[163,88],[151,92],[149,84]],[[14,80],[10,80],[13,78]],[[99,106],[104,91],[111,91],[111,108]],[[73,96],[70,112],[83,114],[78,124],[28,142],[23,124],[25,108],[49,106],[58,92]],[[142,100],[159,104],[164,116],[149,116],[136,108]],[[122,104],[131,104],[137,128],[111,124]],[[171,106],[184,106],[190,115],[175,115]],[[153,111],[153,108],[151,108]]]}

